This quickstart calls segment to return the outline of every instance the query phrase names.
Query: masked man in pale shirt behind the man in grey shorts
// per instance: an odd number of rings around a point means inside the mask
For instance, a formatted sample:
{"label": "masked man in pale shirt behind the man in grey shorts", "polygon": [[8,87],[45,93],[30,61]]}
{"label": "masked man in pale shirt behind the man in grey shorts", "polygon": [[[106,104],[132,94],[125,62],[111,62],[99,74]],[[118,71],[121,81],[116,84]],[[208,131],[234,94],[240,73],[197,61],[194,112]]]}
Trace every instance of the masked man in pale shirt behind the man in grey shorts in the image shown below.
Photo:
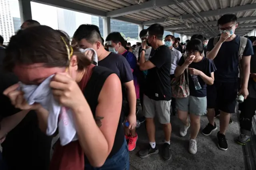
{"label": "masked man in pale shirt behind the man in grey shorts", "polygon": [[[174,70],[176,69],[178,62],[180,61],[180,57],[182,56],[181,52],[173,47],[172,44],[174,43],[174,41],[175,41],[175,37],[172,35],[167,35],[164,38],[164,45],[169,47],[171,51],[171,64],[172,64],[171,70],[170,70],[171,81],[175,77]],[[175,98],[172,98],[171,106],[172,106],[172,115],[176,115]]]}

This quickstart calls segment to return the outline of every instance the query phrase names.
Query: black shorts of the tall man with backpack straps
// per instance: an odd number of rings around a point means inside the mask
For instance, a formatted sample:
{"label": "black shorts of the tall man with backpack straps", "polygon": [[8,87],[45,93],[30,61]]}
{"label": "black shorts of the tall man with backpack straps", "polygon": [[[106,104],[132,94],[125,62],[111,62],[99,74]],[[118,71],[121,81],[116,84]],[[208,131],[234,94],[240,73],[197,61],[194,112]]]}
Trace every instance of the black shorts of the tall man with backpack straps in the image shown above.
{"label": "black shorts of the tall man with backpack straps", "polygon": [[235,113],[238,82],[216,82],[207,86],[207,108]]}

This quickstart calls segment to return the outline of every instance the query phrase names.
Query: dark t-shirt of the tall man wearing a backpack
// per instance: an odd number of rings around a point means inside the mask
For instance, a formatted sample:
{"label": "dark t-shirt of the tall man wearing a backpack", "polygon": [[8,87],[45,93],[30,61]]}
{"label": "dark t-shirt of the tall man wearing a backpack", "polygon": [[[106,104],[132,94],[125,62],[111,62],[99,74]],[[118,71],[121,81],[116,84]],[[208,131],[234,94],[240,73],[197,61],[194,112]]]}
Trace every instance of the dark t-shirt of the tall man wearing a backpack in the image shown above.
{"label": "dark t-shirt of the tall man wearing a backpack", "polygon": [[[211,51],[213,49],[213,40],[214,38],[209,40],[207,51]],[[217,68],[214,73],[215,81],[236,82],[238,80],[239,47],[240,36],[236,36],[236,38],[230,42],[222,43],[220,50],[213,60]],[[247,41],[243,56],[249,55],[253,55],[252,42],[250,40]]]}

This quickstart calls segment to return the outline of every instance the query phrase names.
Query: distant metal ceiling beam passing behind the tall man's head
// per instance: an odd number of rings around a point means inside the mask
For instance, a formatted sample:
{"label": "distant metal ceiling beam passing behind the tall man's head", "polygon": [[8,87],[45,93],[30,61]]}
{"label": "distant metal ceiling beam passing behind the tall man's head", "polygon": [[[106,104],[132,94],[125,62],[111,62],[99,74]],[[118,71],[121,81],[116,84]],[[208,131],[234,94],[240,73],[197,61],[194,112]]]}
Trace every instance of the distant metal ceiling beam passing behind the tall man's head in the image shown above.
{"label": "distant metal ceiling beam passing behind the tall man's head", "polygon": [[[246,27],[246,26],[256,26],[256,23],[252,23],[252,24],[240,24],[238,25],[238,28],[236,28],[236,31],[240,31],[240,30],[253,30],[256,27]],[[242,28],[243,27],[243,28]],[[212,27],[213,30],[218,30],[218,27]],[[192,31],[201,31],[201,30],[208,30],[207,28],[203,27],[203,28],[191,28],[191,29],[183,29],[183,30],[171,30],[171,32],[192,32]],[[170,30],[169,30],[170,31]]]}

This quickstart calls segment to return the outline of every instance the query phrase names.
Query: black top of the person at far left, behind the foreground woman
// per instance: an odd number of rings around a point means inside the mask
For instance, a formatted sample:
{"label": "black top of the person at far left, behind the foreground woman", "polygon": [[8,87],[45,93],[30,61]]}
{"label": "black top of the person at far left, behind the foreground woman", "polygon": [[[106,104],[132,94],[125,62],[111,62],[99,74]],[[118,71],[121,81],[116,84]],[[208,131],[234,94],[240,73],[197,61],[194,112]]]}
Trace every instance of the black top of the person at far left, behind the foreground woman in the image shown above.
{"label": "black top of the person at far left, behind the foreground woman", "polygon": [[[18,79],[12,73],[0,71],[0,80],[0,115],[4,118],[20,111],[2,94],[10,85],[17,83]],[[39,129],[36,113],[30,111],[6,136],[2,143],[3,158],[10,170],[48,170],[51,142],[52,137],[46,136]]]}

